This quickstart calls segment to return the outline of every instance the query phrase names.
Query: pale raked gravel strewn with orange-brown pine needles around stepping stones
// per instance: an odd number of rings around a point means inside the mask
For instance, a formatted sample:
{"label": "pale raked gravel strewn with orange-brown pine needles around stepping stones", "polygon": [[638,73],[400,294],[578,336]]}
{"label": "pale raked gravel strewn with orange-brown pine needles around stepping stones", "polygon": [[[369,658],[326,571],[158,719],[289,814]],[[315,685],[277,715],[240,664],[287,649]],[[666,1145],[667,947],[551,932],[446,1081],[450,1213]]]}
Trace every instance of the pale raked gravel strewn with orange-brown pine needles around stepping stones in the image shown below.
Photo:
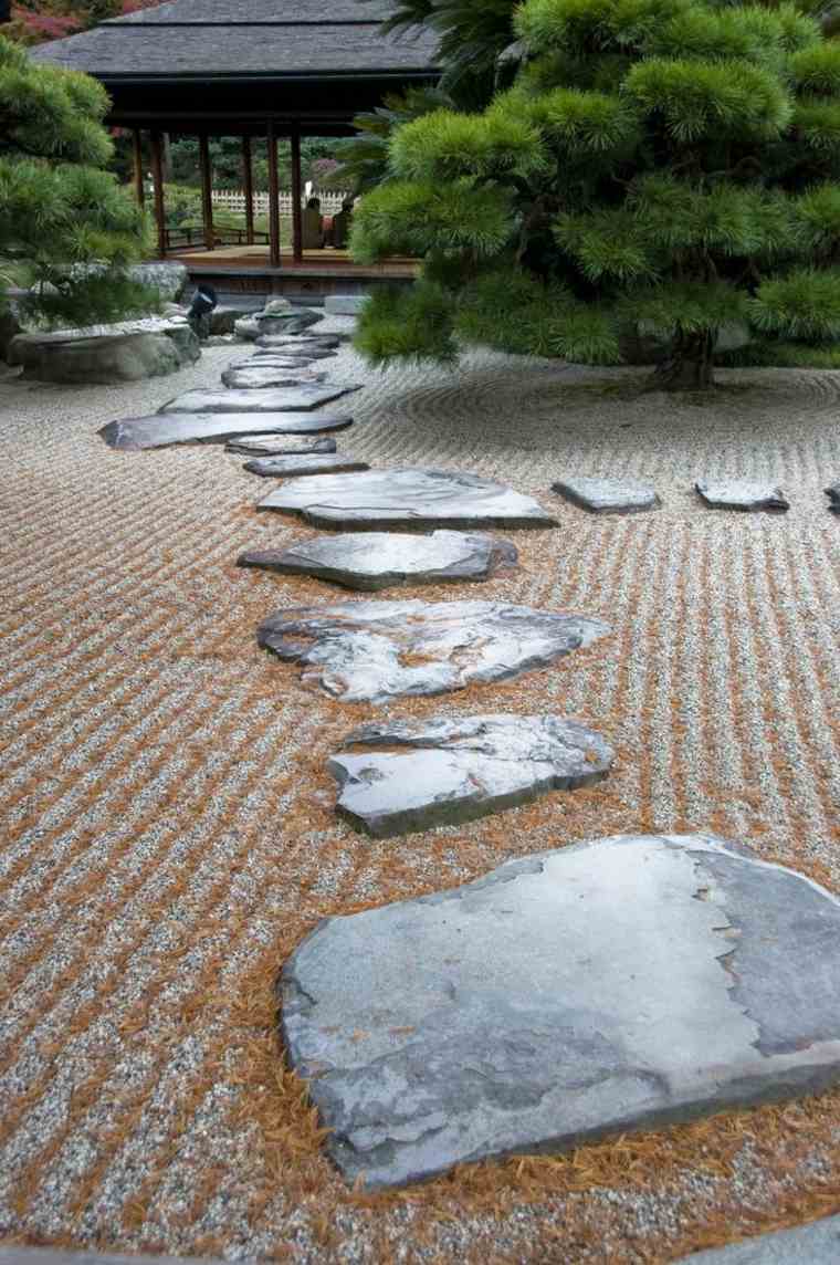
{"label": "pale raked gravel strewn with orange-brown pine needles around stepping stones", "polygon": [[[254,1079],[240,1011],[268,1013],[280,961],[319,917],[564,841],[711,830],[840,887],[840,520],[822,492],[840,478],[840,374],[727,372],[708,398],[672,398],[638,371],[490,353],[372,373],[343,345],[330,378],[366,386],[339,452],[536,497],[559,529],[516,533],[520,568],[481,597],[614,629],[516,682],[377,710],[306,691],[257,648],[273,610],[345,595],[235,567],[314,535],[253,511],[266,488],[242,457],[120,453],[96,435],[242,358],[214,347],[119,388],[0,382],[0,1235],[312,1262],[635,1262],[807,1203],[837,1182],[836,1098],[757,1126],[755,1154],[739,1125],[731,1178],[715,1168],[724,1121],[679,1160],[663,1133],[641,1184],[583,1156],[576,1185],[563,1165],[514,1165],[371,1208],[283,1132],[305,1111],[271,1060]],[[572,476],[648,483],[662,509],[593,519],[552,493]],[[791,510],[732,515],[693,491],[734,477],[777,482]],[[565,712],[611,741],[616,768],[398,849],[339,824],[325,762],[340,739],[447,707]]]}

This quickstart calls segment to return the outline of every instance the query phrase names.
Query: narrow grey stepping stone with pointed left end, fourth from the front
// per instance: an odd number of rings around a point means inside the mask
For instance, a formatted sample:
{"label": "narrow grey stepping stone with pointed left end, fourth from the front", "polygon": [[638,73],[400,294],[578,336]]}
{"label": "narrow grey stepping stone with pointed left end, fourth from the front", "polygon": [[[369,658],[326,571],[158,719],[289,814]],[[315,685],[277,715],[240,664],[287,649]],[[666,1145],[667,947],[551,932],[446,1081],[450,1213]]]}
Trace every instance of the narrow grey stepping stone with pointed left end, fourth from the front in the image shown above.
{"label": "narrow grey stepping stone with pointed left end, fourth from the front", "polygon": [[374,592],[396,584],[490,579],[497,571],[514,568],[517,560],[516,548],[493,536],[463,531],[429,535],[348,531],[299,540],[291,549],[244,553],[238,565],[261,567],[281,576],[315,576],[345,588]]}

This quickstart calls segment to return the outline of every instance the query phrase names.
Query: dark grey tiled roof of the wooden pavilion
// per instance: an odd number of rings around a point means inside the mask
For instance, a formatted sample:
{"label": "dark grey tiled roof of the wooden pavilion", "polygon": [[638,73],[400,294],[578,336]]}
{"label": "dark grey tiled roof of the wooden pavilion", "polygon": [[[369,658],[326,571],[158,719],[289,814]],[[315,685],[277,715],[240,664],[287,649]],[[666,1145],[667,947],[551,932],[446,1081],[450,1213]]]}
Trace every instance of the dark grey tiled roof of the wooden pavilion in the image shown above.
{"label": "dark grey tiled roof of the wooden pavilion", "polygon": [[32,56],[102,80],[430,72],[435,37],[382,35],[388,10],[388,0],[172,0]]}

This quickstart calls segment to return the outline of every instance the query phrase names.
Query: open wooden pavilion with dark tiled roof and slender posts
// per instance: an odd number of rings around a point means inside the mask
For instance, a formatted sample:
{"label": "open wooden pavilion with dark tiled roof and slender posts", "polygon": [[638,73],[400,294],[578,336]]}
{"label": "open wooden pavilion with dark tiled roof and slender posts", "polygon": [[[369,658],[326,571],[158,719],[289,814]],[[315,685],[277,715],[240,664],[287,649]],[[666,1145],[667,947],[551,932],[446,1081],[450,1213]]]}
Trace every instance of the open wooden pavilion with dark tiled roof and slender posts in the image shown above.
{"label": "open wooden pavilion with dark tiled roof and slender posts", "polygon": [[[409,261],[362,268],[345,252],[304,252],[301,137],[352,135],[352,119],[386,94],[438,80],[436,40],[383,35],[391,0],[170,0],[104,22],[92,30],[42,44],[33,58],[85,71],[108,90],[109,123],[132,132],[134,183],[144,200],[148,137],[158,256],[180,256],[225,288],[330,290],[366,277],[411,276]],[[164,135],[199,138],[204,243],[172,247],[166,225]],[[213,137],[242,138],[245,226],[242,247],[218,249],[213,223]],[[268,152],[268,235],[254,233],[252,140]],[[291,254],[281,252],[278,138],[288,138],[292,167]]]}

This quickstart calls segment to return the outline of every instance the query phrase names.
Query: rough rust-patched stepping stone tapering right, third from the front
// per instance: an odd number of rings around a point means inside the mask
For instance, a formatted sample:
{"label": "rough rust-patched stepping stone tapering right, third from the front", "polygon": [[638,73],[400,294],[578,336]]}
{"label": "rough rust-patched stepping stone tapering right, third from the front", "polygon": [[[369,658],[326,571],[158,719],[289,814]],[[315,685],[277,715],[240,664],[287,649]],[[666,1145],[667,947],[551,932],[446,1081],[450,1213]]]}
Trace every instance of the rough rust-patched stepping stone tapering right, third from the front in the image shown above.
{"label": "rough rust-patched stepping stone tapering right, third from the front", "polygon": [[380,703],[519,677],[608,631],[584,615],[505,602],[380,600],[281,610],[257,640],[325,693]]}

